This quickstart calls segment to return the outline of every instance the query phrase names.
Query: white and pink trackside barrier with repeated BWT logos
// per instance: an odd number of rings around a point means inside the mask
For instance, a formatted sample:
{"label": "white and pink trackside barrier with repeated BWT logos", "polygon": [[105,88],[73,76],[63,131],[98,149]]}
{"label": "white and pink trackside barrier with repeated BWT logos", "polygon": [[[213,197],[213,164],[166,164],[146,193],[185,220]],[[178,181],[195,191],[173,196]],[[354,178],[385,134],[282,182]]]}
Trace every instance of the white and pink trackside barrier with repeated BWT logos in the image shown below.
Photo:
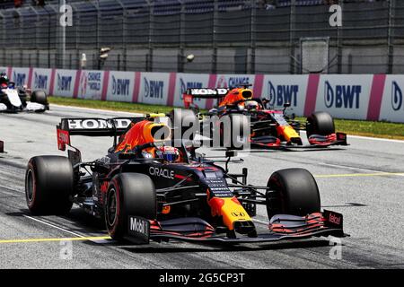
{"label": "white and pink trackside barrier with repeated BWT logos", "polygon": [[[142,102],[183,107],[188,88],[228,88],[252,84],[254,94],[275,108],[291,103],[296,116],[315,110],[333,117],[404,123],[401,74],[182,74],[2,67],[17,85],[49,94],[91,100]],[[196,100],[211,109],[214,100]]]}

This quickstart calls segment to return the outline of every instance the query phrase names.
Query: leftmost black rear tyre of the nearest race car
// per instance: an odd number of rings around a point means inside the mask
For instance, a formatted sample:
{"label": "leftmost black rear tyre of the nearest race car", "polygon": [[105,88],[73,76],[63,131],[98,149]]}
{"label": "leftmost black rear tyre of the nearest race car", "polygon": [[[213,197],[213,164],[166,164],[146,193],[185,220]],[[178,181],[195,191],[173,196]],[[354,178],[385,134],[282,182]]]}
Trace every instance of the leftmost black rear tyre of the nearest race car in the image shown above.
{"label": "leftmost black rear tyre of the nearest race car", "polygon": [[68,158],[31,158],[25,173],[25,197],[35,215],[66,214],[73,205],[74,170]]}

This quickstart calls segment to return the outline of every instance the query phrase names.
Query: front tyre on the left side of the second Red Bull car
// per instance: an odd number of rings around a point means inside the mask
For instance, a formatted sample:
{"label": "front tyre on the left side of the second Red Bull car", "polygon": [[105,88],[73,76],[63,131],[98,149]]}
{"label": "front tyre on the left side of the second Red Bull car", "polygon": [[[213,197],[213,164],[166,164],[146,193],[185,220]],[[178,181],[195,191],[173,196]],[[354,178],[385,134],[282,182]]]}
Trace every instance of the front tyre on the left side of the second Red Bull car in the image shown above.
{"label": "front tyre on the left side of the second Red Bull car", "polygon": [[[229,114],[224,117],[221,118],[220,123],[220,143],[227,149],[244,149],[250,137],[249,118],[242,114]],[[230,120],[230,129],[228,128],[228,120]],[[244,130],[247,131],[248,135],[244,135]],[[238,139],[239,136],[242,136],[242,141]]]}

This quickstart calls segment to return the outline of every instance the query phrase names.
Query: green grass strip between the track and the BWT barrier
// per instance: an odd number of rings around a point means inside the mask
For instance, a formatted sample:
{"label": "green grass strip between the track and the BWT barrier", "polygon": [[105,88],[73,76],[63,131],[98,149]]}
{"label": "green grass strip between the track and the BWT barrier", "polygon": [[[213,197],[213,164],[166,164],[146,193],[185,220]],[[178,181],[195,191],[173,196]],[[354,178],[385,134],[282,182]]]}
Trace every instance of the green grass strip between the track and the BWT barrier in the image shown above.
{"label": "green grass strip between the track and the BWT barrier", "polygon": [[[62,97],[49,97],[50,103],[65,106],[75,106],[92,109],[109,109],[134,113],[169,113],[172,107],[148,105],[139,103],[127,103],[118,101],[81,100]],[[297,118],[305,120],[304,117]],[[388,122],[370,122],[364,120],[335,119],[338,132],[348,135],[364,135],[390,139],[404,140],[404,124]]]}

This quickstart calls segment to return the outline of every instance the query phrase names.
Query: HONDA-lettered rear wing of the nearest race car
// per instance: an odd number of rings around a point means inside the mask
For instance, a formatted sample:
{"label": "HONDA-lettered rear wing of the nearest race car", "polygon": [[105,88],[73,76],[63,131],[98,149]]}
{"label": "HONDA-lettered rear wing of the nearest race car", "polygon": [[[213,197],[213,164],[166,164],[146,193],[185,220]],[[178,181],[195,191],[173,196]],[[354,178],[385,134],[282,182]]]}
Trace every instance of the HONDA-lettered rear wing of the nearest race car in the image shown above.
{"label": "HONDA-lettered rear wing of the nearest race car", "polygon": [[66,151],[70,145],[70,135],[84,136],[118,136],[127,131],[127,127],[145,117],[113,117],[113,118],[62,118],[57,125],[57,148]]}

